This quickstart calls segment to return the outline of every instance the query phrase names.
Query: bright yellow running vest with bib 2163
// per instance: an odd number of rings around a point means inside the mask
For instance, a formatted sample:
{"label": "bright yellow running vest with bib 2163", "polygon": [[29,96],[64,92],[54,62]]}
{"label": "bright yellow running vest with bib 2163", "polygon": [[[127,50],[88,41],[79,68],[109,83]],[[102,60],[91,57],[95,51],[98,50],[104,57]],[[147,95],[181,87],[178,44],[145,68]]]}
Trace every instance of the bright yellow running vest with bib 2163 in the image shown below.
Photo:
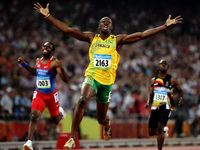
{"label": "bright yellow running vest with bib 2163", "polygon": [[90,63],[85,76],[91,76],[103,85],[113,84],[120,60],[116,46],[116,36],[110,35],[102,40],[100,35],[96,34],[89,48]]}

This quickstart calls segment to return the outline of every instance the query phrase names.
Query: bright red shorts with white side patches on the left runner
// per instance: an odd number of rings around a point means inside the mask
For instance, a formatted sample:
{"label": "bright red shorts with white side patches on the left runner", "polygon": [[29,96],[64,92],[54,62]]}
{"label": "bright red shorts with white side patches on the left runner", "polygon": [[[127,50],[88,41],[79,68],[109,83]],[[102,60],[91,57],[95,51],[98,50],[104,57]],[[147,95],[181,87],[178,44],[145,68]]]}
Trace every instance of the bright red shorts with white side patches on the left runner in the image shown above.
{"label": "bright red shorts with white side patches on the left runner", "polygon": [[51,117],[59,115],[59,96],[57,90],[49,94],[44,94],[36,90],[33,92],[31,109],[42,113],[45,107],[48,108]]}

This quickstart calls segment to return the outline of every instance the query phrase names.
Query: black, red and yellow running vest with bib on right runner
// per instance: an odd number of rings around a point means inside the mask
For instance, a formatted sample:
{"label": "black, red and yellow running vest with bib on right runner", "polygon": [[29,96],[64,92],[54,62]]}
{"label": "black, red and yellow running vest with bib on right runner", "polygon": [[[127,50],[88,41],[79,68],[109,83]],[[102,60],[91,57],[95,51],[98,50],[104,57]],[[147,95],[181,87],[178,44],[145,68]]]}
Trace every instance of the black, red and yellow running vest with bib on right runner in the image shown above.
{"label": "black, red and yellow running vest with bib on right runner", "polygon": [[153,79],[153,104],[151,109],[156,109],[158,106],[165,104],[166,109],[173,109],[171,105],[173,87],[171,85],[171,75],[167,74],[164,79],[154,77]]}

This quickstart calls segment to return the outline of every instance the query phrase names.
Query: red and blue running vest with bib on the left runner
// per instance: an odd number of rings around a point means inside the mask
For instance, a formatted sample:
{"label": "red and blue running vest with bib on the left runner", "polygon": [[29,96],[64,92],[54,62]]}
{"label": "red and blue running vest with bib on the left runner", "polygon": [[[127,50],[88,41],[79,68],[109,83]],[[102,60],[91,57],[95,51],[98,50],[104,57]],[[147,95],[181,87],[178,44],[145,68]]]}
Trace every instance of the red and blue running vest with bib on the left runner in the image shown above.
{"label": "red and blue running vest with bib on the left runner", "polygon": [[46,64],[41,62],[42,58],[36,63],[36,90],[41,93],[51,93],[55,90],[55,76],[50,72],[52,58]]}

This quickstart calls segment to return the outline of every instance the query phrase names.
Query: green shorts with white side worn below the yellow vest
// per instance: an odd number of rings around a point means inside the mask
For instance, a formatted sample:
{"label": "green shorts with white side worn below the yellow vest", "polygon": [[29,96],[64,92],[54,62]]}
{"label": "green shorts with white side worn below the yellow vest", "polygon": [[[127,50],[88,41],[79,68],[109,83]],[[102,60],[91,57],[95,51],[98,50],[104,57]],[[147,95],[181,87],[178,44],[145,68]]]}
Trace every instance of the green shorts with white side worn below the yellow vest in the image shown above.
{"label": "green shorts with white side worn below the yellow vest", "polygon": [[92,86],[92,88],[96,92],[96,101],[99,103],[109,103],[111,100],[111,90],[112,90],[112,84],[111,85],[103,85],[93,79],[92,77],[86,77],[83,85],[89,84]]}

